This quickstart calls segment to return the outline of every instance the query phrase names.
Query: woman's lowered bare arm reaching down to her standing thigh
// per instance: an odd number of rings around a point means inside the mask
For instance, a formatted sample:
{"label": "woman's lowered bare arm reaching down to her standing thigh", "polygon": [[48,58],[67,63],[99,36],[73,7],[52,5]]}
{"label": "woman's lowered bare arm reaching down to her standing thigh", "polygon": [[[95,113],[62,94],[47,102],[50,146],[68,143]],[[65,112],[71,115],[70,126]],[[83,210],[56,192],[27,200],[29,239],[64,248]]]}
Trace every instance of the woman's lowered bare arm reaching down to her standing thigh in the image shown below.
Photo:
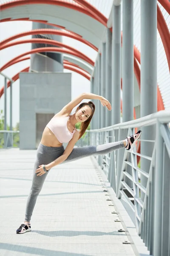
{"label": "woman's lowered bare arm reaching down to her standing thigh", "polygon": [[[73,151],[74,145],[76,144],[77,140],[79,139],[79,132],[76,131],[73,135],[73,138],[70,140],[70,142],[68,143],[67,147],[65,148],[64,153],[58,157],[56,160],[54,160],[53,162],[45,165],[45,169],[46,171],[48,171],[49,169],[51,169],[54,166],[57,166],[58,164],[64,162],[67,157],[69,156],[69,154],[71,154],[71,152]],[[43,164],[41,166],[39,166],[39,168],[36,170],[37,176],[41,176],[43,174],[45,174],[45,171],[43,169]]]}

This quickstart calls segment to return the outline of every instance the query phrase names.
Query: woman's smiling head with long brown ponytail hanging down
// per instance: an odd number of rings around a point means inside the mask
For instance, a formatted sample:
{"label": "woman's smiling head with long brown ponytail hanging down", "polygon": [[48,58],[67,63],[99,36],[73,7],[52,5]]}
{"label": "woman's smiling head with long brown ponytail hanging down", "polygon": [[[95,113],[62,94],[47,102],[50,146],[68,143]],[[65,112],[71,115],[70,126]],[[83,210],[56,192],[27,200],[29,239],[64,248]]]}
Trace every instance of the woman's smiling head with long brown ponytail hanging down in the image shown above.
{"label": "woman's smiling head with long brown ponytail hanging down", "polygon": [[93,102],[83,102],[81,103],[76,110],[75,117],[78,122],[81,122],[81,130],[79,134],[79,139],[85,133],[88,125],[91,122],[91,119],[94,115],[95,105]]}

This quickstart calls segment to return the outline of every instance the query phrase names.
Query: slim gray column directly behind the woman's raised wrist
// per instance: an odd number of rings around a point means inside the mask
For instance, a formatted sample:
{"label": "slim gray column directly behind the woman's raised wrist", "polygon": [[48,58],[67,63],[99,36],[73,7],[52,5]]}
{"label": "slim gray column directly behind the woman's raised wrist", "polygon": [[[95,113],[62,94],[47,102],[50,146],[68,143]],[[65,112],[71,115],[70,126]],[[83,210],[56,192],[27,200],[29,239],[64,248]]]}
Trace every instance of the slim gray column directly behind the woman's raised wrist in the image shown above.
{"label": "slim gray column directly behind the woman's raised wrist", "polygon": [[[101,55],[101,96],[106,97],[106,44],[102,43],[102,55]],[[106,108],[101,108],[101,128],[106,126],[105,123]]]}

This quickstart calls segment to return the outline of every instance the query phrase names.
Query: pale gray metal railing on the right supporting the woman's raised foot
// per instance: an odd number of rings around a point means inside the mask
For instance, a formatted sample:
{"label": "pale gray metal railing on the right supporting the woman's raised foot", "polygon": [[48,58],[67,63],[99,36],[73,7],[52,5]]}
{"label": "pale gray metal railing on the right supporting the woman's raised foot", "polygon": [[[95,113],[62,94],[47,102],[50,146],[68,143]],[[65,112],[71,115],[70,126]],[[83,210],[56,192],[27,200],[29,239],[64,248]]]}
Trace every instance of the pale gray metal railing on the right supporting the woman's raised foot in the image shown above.
{"label": "pale gray metal railing on the right supporting the woman's raised foot", "polygon": [[[136,231],[150,255],[154,256],[170,255],[169,123],[170,111],[160,111],[130,122],[87,131],[78,144],[99,145],[123,140],[137,128],[153,130],[154,140],[145,139],[142,133],[132,152],[123,148],[96,156],[96,160],[117,198],[127,201],[130,206],[127,213],[135,216],[133,223]],[[151,148],[150,155],[139,153],[142,143]],[[143,181],[144,178],[146,182]]]}

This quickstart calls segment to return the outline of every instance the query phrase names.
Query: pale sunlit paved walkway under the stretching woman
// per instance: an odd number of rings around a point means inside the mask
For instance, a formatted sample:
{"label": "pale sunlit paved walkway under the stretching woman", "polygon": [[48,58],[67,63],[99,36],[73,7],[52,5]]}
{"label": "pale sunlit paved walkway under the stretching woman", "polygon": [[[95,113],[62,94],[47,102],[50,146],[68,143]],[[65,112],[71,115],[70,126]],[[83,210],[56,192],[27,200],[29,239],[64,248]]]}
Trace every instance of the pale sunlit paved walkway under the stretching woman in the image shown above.
{"label": "pale sunlit paved walkway under the stretching woman", "polygon": [[[36,151],[0,150],[0,256],[134,256],[100,171],[86,157],[52,169],[34,208],[32,231],[23,221]],[[102,180],[102,181],[101,181]]]}

